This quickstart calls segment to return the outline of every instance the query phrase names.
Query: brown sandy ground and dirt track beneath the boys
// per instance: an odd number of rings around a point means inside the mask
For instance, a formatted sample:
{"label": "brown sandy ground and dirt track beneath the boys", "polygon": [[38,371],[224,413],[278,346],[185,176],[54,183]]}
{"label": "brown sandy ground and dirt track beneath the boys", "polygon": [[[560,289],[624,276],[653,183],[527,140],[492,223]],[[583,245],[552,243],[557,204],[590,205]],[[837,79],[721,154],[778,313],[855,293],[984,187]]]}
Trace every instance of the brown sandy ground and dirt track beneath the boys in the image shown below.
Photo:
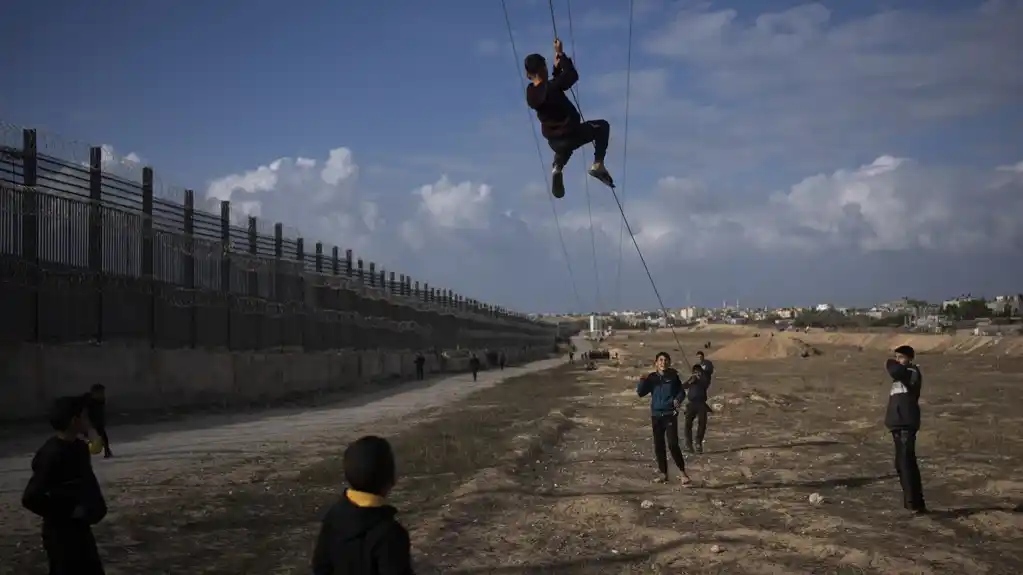
{"label": "brown sandy ground and dirt track beneath the boys", "polygon": [[[419,573],[1023,573],[1023,358],[937,345],[919,357],[934,513],[910,518],[881,426],[881,344],[679,337],[691,360],[707,341],[719,355],[707,452],[686,463],[694,487],[651,483],[634,391],[676,344],[624,334],[609,342],[621,365],[595,371],[551,361],[480,393],[460,377],[396,395],[389,412],[369,402],[139,437],[96,461],[108,573],[308,573],[317,516],[341,489],[337,455],[366,432],[395,444],[394,502]],[[0,463],[0,558],[13,559],[0,573],[40,565],[14,493],[26,463]]]}

